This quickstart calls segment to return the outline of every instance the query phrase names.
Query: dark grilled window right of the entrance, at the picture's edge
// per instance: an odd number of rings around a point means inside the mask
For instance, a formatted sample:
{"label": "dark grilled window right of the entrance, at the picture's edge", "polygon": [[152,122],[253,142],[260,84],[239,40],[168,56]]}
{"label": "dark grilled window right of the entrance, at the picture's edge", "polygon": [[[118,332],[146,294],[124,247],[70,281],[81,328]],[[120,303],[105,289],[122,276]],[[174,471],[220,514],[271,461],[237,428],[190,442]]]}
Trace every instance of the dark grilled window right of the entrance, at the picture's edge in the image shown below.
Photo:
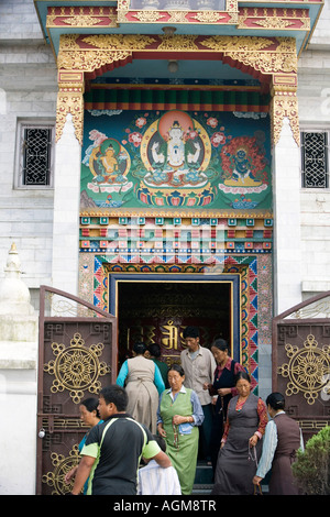
{"label": "dark grilled window right of the entrance, at the picture's edge", "polygon": [[301,170],[304,188],[329,187],[329,134],[327,131],[301,133]]}

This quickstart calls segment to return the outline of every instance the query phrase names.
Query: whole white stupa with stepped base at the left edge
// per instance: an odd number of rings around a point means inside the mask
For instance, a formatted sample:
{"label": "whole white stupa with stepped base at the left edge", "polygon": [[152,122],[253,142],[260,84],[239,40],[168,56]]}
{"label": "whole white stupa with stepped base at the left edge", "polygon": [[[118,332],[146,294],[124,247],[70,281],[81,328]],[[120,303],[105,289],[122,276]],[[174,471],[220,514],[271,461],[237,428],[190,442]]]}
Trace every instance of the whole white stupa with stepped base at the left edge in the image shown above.
{"label": "whole white stupa with stepped base at the left edge", "polygon": [[[0,402],[11,414],[11,427],[0,418],[2,460],[0,494],[33,495],[35,492],[38,315],[21,279],[21,263],[12,244],[4,278],[0,279]],[[23,422],[23,425],[22,425]],[[29,450],[25,444],[29,443]],[[18,469],[18,464],[20,469]]]}

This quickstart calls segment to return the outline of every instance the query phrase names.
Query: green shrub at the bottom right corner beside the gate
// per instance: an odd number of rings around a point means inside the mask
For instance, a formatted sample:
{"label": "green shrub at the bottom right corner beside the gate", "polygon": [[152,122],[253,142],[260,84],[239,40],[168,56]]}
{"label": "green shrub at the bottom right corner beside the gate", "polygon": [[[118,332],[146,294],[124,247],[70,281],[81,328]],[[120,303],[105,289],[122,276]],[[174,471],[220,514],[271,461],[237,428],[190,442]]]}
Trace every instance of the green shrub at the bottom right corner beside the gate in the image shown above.
{"label": "green shrub at the bottom right corner beside the gate", "polygon": [[307,495],[330,495],[330,426],[324,427],[298,451],[293,472],[300,491]]}

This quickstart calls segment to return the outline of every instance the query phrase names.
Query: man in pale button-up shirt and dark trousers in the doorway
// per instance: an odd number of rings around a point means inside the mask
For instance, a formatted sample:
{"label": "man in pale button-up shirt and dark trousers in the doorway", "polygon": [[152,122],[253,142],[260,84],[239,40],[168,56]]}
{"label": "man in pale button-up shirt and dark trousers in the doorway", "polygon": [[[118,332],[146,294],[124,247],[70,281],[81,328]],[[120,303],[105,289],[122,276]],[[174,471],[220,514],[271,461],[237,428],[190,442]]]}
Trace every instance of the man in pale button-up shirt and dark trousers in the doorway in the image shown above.
{"label": "man in pale button-up shirt and dark trousers in the doorway", "polygon": [[213,384],[217,367],[212,352],[199,344],[199,329],[186,327],[184,339],[187,349],[180,353],[182,366],[185,371],[185,386],[194,389],[202,407],[205,416],[200,427],[200,441],[206,460],[210,460],[210,437],[212,427],[212,405],[209,392],[204,389],[204,384]]}

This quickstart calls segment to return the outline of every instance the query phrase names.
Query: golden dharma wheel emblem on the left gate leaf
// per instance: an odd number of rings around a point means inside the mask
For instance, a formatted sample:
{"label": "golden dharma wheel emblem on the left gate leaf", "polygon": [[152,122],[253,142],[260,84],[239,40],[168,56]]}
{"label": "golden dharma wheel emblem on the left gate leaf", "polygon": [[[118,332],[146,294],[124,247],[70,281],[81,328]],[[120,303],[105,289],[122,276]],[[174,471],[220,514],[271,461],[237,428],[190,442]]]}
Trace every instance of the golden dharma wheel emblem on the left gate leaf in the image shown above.
{"label": "golden dharma wheel emblem on the left gate leaf", "polygon": [[67,389],[75,404],[80,403],[86,391],[98,394],[101,388],[99,377],[110,372],[109,365],[99,361],[103,348],[102,343],[86,348],[79,333],[74,334],[68,348],[53,342],[56,359],[44,365],[44,372],[55,376],[51,392]]}

